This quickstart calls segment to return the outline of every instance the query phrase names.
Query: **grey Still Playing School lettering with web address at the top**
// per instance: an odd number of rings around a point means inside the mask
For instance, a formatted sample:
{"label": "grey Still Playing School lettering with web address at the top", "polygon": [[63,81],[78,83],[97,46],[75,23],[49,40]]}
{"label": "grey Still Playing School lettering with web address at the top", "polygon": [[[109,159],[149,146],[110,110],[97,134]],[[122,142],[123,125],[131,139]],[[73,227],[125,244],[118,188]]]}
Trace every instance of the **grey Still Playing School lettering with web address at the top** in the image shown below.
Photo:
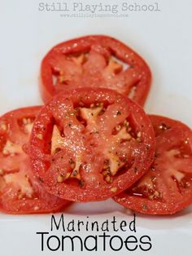
{"label": "grey Still Playing School lettering with web address at the top", "polygon": [[128,17],[132,12],[161,11],[159,2],[118,2],[85,3],[85,2],[39,2],[38,11],[58,12],[66,18]]}

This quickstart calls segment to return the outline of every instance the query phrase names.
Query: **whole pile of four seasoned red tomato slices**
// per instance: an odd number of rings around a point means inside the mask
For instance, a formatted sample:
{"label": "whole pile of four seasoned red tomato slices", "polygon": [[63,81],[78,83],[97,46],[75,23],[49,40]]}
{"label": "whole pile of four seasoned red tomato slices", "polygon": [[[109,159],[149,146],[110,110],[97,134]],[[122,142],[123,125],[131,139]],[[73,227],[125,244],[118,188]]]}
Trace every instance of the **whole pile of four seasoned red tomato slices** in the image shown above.
{"label": "whole pile of four seasoned red tomato slices", "polygon": [[192,203],[192,131],[142,109],[151,71],[107,36],[53,47],[41,62],[44,106],[0,118],[0,210],[63,211],[113,198],[143,214]]}

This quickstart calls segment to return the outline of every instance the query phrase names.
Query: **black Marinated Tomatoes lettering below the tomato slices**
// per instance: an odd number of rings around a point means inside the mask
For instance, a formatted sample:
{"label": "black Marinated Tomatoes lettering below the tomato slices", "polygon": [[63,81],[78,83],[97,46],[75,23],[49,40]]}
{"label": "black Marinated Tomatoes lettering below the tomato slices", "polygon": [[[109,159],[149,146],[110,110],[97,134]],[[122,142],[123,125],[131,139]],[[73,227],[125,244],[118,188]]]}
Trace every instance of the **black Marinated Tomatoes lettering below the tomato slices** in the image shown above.
{"label": "black Marinated Tomatoes lettering below the tomato slices", "polygon": [[50,230],[36,232],[41,252],[109,252],[149,251],[151,236],[137,233],[136,214],[129,218],[110,216],[106,219],[66,218],[52,215]]}

